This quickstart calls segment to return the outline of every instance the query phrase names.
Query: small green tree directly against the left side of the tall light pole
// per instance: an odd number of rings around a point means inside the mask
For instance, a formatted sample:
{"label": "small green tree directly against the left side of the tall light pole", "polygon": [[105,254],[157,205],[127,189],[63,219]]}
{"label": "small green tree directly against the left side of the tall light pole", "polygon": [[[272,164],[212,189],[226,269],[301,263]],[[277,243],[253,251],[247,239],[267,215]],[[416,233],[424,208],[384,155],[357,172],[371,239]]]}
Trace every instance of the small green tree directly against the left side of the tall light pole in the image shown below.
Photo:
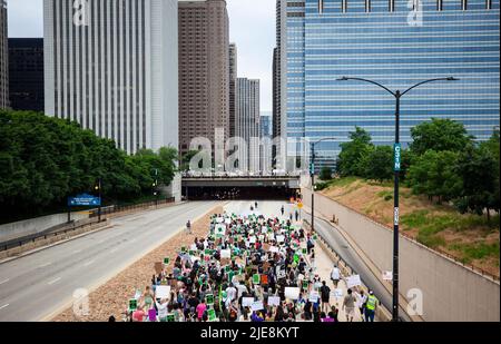
{"label": "small green tree directly against the left side of the tall light pole", "polygon": [[376,146],[369,150],[361,161],[364,178],[384,181],[393,176],[393,149],[390,146]]}

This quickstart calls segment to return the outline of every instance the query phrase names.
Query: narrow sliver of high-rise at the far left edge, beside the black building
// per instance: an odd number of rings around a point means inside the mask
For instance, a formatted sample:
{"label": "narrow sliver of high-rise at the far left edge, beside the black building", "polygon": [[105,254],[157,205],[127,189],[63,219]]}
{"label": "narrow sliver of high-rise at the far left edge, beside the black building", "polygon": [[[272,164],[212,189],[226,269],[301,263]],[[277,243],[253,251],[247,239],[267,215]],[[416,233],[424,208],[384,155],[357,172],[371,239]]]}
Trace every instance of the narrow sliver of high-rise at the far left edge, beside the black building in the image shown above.
{"label": "narrow sliver of high-rise at the far left edge, beside the black building", "polygon": [[7,0],[0,0],[0,109],[9,107]]}

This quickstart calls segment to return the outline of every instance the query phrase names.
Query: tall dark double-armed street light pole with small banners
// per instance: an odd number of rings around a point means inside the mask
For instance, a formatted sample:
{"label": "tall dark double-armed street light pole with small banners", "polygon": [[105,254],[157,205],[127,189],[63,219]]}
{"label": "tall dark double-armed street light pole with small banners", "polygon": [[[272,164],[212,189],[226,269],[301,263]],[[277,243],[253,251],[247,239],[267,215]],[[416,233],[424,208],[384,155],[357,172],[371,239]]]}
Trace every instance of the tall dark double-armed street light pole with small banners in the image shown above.
{"label": "tall dark double-armed street light pole with small banners", "polygon": [[393,212],[393,309],[392,309],[392,321],[397,322],[399,321],[399,225],[400,225],[400,193],[399,193],[399,179],[400,179],[400,161],[401,161],[401,142],[400,142],[400,100],[403,96],[405,96],[407,92],[413,90],[414,88],[418,88],[424,83],[430,82],[436,82],[436,81],[458,81],[459,79],[449,77],[449,78],[438,78],[438,79],[430,79],[422,82],[419,82],[405,91],[401,92],[400,90],[396,90],[393,92],[387,87],[367,79],[362,78],[347,78],[343,77],[341,79],[337,79],[338,81],[347,81],[347,80],[356,80],[356,81],[363,81],[373,83],[385,91],[387,91],[390,95],[395,97],[396,106],[395,106],[395,146],[394,146],[394,154],[395,154],[395,164],[394,164],[394,173],[395,173],[395,186],[394,186],[394,212]]}

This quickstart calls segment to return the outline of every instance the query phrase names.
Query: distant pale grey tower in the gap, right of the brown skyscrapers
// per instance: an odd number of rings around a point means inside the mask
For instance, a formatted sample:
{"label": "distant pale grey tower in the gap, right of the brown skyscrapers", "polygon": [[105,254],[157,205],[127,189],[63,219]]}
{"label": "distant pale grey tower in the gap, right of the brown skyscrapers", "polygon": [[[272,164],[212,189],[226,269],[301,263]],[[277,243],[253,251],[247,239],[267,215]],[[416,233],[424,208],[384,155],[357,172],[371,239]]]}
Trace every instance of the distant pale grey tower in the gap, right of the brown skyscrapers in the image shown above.
{"label": "distant pale grey tower in the gap, right of the brown skyscrapers", "polygon": [[259,168],[259,80],[237,78],[236,80],[236,137],[246,147],[239,148],[238,168],[243,171]]}

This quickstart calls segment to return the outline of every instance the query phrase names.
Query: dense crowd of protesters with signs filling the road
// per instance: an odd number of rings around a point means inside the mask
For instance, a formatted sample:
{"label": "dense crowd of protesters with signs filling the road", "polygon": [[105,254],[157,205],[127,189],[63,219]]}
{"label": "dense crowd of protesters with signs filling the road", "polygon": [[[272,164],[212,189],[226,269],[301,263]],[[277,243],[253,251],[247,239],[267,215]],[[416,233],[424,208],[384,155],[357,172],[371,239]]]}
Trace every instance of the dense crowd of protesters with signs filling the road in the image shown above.
{"label": "dense crowd of protesters with signs filling the road", "polygon": [[[207,237],[166,257],[150,284],[129,301],[127,321],[340,321],[332,291],[316,273],[316,237],[302,226],[250,212],[216,214],[208,229]],[[170,258],[174,268],[167,271]],[[335,285],[341,278],[336,266],[331,278]],[[366,295],[348,289],[342,302],[346,321],[353,321],[356,307],[364,313],[366,302]]]}

